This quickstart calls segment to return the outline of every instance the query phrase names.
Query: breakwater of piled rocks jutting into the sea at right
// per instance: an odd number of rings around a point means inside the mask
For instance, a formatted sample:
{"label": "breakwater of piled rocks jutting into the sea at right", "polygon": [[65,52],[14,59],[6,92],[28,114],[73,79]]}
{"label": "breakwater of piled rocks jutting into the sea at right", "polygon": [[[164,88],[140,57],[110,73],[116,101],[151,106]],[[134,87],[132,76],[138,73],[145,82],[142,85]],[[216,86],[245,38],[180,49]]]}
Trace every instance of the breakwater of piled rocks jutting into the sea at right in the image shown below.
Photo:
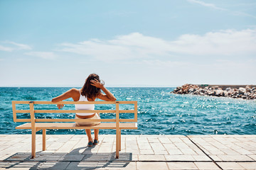
{"label": "breakwater of piled rocks jutting into the sea at right", "polygon": [[243,98],[248,100],[256,99],[256,87],[251,88],[250,86],[235,88],[222,89],[219,86],[206,86],[201,87],[195,84],[184,84],[178,86],[173,94],[194,94],[201,96],[218,96],[218,97],[230,97],[230,98]]}

